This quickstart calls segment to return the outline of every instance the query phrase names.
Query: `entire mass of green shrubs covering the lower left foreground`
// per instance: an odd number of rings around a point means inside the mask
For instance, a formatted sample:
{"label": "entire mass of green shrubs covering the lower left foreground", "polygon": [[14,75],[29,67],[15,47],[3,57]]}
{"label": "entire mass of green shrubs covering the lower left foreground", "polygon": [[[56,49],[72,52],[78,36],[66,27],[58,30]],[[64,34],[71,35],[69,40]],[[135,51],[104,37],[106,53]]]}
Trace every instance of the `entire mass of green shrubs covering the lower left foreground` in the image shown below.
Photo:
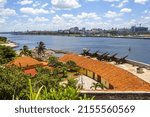
{"label": "entire mass of green shrubs covering the lower left foreground", "polygon": [[79,100],[91,99],[80,96],[76,88],[77,81],[69,78],[62,79],[67,68],[56,67],[53,71],[37,67],[37,74],[32,77],[25,75],[17,67],[0,67],[0,99],[24,100]]}

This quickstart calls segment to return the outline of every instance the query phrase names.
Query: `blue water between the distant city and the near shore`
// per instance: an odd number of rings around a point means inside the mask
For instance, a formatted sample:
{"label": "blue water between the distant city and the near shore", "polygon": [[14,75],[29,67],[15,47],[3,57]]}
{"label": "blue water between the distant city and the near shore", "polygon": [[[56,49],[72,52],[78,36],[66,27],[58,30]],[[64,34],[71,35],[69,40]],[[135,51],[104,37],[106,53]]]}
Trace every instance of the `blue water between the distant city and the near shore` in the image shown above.
{"label": "blue water between the distant city and the near shore", "polygon": [[84,48],[90,52],[115,53],[117,57],[128,55],[128,59],[150,64],[150,39],[130,39],[130,38],[106,38],[106,37],[73,37],[73,36],[53,36],[53,35],[12,35],[0,34],[10,41],[18,44],[15,50],[19,50],[23,45],[28,45],[33,49],[40,41],[45,43],[46,48],[64,50],[75,53],[82,53]]}

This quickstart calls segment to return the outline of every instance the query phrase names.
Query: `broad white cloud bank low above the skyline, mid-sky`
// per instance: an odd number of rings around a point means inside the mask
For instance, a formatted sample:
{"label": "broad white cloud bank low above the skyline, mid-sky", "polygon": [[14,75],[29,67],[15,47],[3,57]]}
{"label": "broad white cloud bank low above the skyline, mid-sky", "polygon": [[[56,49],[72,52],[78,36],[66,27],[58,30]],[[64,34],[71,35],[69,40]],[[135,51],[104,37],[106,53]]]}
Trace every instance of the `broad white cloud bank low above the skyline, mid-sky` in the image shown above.
{"label": "broad white cloud bank low above the skyline, mid-sky", "polygon": [[[98,28],[102,26],[104,22],[101,22],[101,18],[96,13],[83,12],[78,15],[62,14],[55,15],[52,19],[52,24],[56,29],[67,29],[70,27],[86,27],[86,28]],[[101,24],[101,25],[100,25]]]}

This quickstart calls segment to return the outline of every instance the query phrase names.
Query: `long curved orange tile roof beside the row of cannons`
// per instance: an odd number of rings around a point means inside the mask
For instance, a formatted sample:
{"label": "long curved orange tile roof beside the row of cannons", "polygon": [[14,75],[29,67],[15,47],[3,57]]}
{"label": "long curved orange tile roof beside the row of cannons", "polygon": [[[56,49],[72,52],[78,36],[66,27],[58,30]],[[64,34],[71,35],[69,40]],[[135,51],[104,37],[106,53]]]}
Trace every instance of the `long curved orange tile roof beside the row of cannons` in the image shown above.
{"label": "long curved orange tile roof beside the row of cannons", "polygon": [[93,60],[84,56],[67,54],[59,58],[61,62],[72,60],[82,68],[95,72],[107,80],[117,91],[150,91],[150,84],[132,73],[109,64],[108,62]]}

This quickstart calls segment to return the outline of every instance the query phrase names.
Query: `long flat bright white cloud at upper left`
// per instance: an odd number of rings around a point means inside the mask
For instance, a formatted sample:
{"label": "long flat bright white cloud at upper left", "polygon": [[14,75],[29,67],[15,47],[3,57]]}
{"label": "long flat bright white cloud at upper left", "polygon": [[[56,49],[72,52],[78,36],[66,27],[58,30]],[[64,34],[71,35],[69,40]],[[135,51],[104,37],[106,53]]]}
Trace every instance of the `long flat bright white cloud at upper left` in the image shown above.
{"label": "long flat bright white cloud at upper left", "polygon": [[21,8],[20,12],[25,13],[25,14],[34,14],[34,15],[49,13],[49,11],[45,9],[34,9],[30,7]]}

